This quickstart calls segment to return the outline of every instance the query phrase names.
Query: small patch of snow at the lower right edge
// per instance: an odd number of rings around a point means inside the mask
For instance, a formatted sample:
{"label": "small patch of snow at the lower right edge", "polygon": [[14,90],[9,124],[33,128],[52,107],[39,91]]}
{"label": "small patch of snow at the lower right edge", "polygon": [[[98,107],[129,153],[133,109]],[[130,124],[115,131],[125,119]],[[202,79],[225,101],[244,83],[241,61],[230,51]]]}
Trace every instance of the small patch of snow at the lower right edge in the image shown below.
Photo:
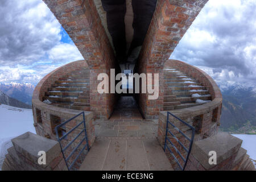
{"label": "small patch of snow at the lower right edge", "polygon": [[[243,140],[242,147],[247,150],[247,154],[251,159],[256,160],[256,135],[233,135],[234,137],[240,138]],[[254,162],[256,167],[256,163]]]}

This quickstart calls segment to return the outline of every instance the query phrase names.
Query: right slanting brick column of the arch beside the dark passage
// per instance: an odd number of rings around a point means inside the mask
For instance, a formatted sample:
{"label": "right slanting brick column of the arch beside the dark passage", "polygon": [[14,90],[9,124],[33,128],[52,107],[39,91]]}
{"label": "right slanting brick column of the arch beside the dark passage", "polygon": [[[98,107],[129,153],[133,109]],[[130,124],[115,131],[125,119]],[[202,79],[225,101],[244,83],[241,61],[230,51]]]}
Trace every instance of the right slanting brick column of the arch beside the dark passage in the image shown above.
{"label": "right slanting brick column of the arch beside the dark passage", "polygon": [[163,110],[163,65],[208,0],[158,0],[139,58],[139,73],[159,73],[159,98],[140,94],[139,105],[146,118]]}

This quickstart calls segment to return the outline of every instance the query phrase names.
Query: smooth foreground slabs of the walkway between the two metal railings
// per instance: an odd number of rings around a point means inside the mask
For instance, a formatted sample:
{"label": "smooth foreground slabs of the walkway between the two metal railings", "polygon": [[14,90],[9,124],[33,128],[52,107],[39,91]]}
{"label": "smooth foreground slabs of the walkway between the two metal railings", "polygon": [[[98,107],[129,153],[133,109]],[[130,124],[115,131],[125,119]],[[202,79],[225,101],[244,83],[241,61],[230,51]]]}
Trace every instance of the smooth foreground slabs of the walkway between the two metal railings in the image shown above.
{"label": "smooth foreground slabs of the walkway between the two metal railings", "polygon": [[172,171],[157,139],[96,139],[80,171]]}

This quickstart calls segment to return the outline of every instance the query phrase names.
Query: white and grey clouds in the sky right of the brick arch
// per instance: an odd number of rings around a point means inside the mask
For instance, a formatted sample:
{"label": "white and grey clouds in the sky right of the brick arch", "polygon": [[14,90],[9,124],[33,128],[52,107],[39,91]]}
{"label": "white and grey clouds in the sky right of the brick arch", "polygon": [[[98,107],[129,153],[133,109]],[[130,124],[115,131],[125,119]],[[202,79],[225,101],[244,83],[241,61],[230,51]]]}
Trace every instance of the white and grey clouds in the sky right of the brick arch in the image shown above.
{"label": "white and grey clouds in the sky right of the brick arch", "polygon": [[219,82],[255,82],[255,9],[251,0],[210,0],[170,58],[196,65]]}

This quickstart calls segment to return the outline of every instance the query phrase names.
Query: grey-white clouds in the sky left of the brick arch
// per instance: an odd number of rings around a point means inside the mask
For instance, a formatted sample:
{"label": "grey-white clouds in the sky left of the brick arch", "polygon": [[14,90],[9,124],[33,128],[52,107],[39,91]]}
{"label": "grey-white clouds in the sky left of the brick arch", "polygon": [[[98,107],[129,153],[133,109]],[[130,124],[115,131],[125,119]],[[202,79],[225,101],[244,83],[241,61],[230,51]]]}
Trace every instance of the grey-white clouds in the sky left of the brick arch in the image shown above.
{"label": "grey-white clouds in the sky left of the brick arch", "polygon": [[42,0],[0,1],[0,82],[36,83],[53,69],[83,59],[61,42],[61,25]]}

